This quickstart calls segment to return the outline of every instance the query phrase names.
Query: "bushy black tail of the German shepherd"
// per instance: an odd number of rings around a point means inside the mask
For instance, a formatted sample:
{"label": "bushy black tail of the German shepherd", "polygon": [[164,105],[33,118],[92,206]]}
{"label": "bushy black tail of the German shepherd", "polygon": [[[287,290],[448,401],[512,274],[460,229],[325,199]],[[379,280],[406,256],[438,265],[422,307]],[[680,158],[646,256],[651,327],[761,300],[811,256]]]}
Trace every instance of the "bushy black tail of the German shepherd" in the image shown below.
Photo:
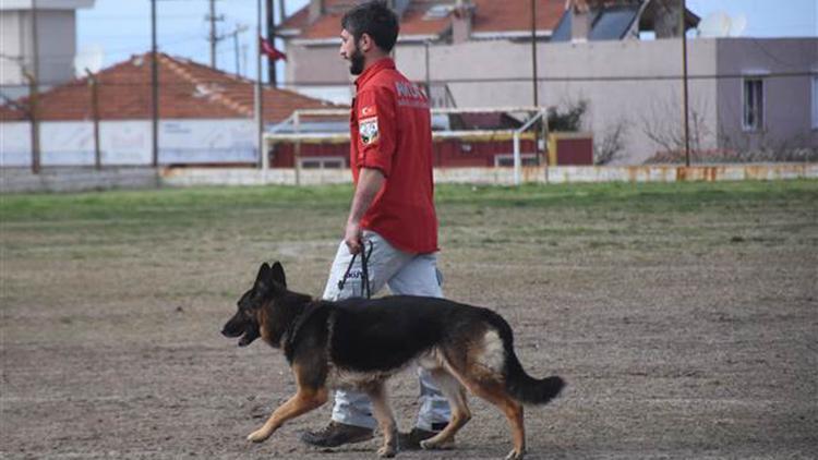
{"label": "bushy black tail of the German shepherd", "polygon": [[[491,312],[491,311],[490,311]],[[497,328],[505,351],[506,389],[518,401],[528,404],[545,404],[556,398],[565,387],[560,376],[534,378],[526,373],[514,352],[514,334],[512,327],[502,316],[494,312],[490,322]]]}

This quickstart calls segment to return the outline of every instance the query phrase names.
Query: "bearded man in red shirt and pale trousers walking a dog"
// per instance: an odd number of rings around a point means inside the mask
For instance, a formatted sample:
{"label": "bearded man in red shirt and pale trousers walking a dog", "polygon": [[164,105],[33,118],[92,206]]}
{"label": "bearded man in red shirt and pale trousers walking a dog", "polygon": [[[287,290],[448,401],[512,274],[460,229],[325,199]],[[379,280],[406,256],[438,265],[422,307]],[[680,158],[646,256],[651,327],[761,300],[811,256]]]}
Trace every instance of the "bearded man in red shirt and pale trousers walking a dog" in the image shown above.
{"label": "bearded man in red shirt and pale trousers walking a dog", "polygon": [[[324,299],[363,294],[363,254],[369,254],[365,268],[371,292],[388,286],[394,294],[443,296],[435,256],[437,217],[429,102],[389,58],[398,19],[385,2],[371,1],[347,12],[341,28],[340,55],[358,75],[350,119],[356,191]],[[345,279],[356,254],[359,256]],[[443,429],[450,416],[431,376],[425,371],[419,374],[420,413],[411,433],[400,437],[404,448],[417,448],[420,440]],[[336,447],[372,438],[376,425],[365,395],[338,390],[329,424],[301,439],[313,446]]]}

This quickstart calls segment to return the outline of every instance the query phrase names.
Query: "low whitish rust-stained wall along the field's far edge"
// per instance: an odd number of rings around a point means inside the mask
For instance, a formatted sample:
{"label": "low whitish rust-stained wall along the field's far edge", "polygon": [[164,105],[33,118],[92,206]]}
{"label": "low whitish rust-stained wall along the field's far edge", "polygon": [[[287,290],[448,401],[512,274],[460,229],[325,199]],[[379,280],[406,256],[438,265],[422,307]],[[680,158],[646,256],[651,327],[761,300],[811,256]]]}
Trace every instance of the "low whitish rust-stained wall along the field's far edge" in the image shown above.
{"label": "low whitish rust-stained wall along the field's far edge", "polygon": [[[80,192],[196,185],[318,185],[351,182],[347,169],[251,168],[0,168],[0,193]],[[714,166],[557,166],[522,168],[524,183],[683,182],[818,179],[818,164],[746,164]],[[514,184],[512,168],[435,169],[437,183]]]}

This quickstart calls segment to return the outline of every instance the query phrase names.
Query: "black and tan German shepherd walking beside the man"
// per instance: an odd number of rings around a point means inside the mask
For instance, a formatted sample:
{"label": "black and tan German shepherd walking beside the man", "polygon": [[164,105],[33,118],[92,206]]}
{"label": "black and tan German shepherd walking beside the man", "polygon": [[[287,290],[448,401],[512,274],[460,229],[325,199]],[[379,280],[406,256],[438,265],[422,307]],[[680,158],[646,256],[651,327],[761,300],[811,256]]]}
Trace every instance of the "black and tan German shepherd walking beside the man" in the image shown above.
{"label": "black and tan German shepherd walking beside the man", "polygon": [[424,440],[422,448],[445,446],[471,419],[468,388],[508,419],[514,449],[506,459],[520,459],[526,449],[522,404],[544,404],[565,385],[557,376],[537,379],[526,374],[514,352],[512,328],[488,308],[406,295],[314,300],[287,290],[278,262],[261,266],[238,307],[221,334],[240,337],[239,347],[261,337],[282,349],[298,386],[296,395],[248,436],[255,443],[267,439],[288,420],[324,404],[329,389],[354,388],[372,399],[384,436],[378,456],[394,457],[397,425],[385,383],[417,363],[432,373],[452,407],[448,425]]}

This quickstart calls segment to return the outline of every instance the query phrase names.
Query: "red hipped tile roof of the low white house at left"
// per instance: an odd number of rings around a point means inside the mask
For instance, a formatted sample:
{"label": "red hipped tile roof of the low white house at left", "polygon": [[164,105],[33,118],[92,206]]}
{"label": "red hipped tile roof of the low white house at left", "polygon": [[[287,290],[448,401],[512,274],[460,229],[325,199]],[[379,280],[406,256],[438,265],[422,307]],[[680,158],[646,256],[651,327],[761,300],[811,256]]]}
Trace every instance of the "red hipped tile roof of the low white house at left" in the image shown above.
{"label": "red hipped tile roof of the low white house at left", "polygon": [[[159,53],[159,118],[219,119],[253,117],[254,82],[213,70],[185,59]],[[151,53],[134,56],[97,75],[99,118],[134,120],[152,118]],[[91,120],[88,78],[79,78],[39,95],[41,120]],[[14,105],[27,108],[28,98]],[[264,119],[276,122],[296,109],[332,107],[330,104],[286,90],[265,88]],[[7,105],[0,120],[24,120],[26,113]]]}

